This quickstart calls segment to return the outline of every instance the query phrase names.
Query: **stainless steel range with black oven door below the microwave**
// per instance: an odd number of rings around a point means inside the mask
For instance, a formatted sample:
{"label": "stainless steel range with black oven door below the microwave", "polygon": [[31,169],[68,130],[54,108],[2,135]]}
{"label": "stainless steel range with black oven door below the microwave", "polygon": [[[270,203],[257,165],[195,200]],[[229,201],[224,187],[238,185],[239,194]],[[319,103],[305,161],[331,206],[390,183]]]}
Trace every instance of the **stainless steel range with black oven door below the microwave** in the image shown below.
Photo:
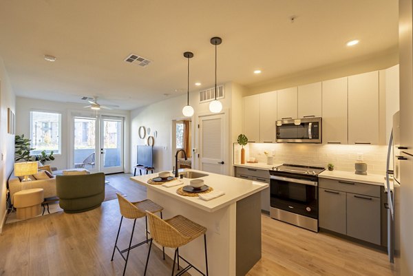
{"label": "stainless steel range with black oven door below the microwave", "polygon": [[318,175],[323,167],[282,164],[270,170],[270,216],[318,232]]}

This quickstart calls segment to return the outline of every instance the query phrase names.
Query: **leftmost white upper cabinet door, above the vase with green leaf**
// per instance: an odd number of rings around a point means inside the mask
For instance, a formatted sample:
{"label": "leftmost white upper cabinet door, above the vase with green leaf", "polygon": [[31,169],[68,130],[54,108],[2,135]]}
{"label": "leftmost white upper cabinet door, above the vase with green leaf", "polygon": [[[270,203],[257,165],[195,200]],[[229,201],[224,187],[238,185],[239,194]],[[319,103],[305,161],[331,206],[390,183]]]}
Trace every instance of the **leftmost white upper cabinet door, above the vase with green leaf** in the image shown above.
{"label": "leftmost white upper cabinet door, above the vase with green leaf", "polygon": [[244,97],[243,132],[248,142],[260,142],[260,94]]}

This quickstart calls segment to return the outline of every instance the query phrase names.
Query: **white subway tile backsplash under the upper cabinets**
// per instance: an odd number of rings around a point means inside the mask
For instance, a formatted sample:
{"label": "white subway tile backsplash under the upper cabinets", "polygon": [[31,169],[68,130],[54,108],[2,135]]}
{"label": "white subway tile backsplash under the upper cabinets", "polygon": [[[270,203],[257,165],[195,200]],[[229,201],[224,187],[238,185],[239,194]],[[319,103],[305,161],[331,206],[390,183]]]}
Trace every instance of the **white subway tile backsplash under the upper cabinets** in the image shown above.
{"label": "white subway tile backsplash under the upper cabinets", "polygon": [[266,163],[264,151],[274,154],[274,164],[292,163],[327,167],[335,165],[339,171],[354,171],[354,162],[359,153],[367,163],[368,173],[384,174],[387,146],[372,145],[312,145],[312,144],[260,144],[246,145],[246,158],[255,157]]}

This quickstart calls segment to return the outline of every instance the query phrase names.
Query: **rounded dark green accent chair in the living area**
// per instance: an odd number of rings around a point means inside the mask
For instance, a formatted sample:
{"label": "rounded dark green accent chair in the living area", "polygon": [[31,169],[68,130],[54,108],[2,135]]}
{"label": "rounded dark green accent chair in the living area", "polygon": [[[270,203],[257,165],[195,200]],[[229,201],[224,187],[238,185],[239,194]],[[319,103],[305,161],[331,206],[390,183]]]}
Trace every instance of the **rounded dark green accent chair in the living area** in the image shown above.
{"label": "rounded dark green accent chair in the living area", "polygon": [[105,199],[105,173],[56,176],[56,193],[65,213],[95,209]]}

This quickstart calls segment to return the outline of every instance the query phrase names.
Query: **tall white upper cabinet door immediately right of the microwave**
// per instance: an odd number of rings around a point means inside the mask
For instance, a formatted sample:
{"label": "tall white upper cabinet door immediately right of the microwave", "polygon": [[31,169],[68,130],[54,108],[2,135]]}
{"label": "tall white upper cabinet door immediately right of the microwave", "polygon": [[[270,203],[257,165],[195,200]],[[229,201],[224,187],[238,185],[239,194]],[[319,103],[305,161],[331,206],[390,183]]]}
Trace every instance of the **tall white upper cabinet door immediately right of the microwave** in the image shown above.
{"label": "tall white upper cabinet door immediately right of the microwave", "polygon": [[347,144],[347,77],[323,81],[323,143]]}

